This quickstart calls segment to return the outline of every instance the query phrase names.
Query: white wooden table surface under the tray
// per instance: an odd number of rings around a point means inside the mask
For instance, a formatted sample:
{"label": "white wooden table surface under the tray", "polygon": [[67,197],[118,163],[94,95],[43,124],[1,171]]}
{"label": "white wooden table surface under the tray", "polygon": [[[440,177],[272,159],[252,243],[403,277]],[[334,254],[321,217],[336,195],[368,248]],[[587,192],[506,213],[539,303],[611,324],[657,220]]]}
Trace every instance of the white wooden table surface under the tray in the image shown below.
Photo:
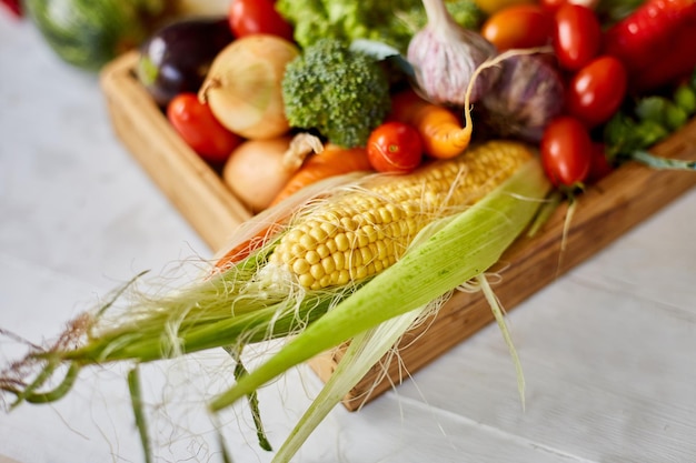
{"label": "white wooden table surface under the tray", "polygon": [[[50,339],[135,273],[210,256],[113,135],[95,76],[4,13],[0,70],[0,328]],[[695,231],[690,191],[510,313],[526,410],[491,325],[360,412],[335,409],[297,461],[696,462]],[[17,350],[0,338],[2,364]],[[146,369],[156,461],[221,461],[202,399],[229,366],[208,352]],[[1,413],[0,463],[141,462],[122,373]],[[276,446],[320,386],[301,366],[261,391]],[[221,415],[227,446],[270,461],[246,412]]]}

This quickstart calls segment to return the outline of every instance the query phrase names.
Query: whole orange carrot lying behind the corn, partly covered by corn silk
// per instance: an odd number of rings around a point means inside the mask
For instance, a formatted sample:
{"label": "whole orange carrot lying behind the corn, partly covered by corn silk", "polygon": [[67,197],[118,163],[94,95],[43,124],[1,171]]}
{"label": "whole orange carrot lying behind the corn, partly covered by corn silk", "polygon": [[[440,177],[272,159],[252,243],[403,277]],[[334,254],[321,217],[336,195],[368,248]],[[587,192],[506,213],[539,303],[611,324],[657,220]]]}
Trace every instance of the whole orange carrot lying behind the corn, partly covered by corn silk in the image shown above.
{"label": "whole orange carrot lying behind the corn, partly covered by corn silk", "polygon": [[[344,149],[328,145],[320,153],[312,154],[305,160],[305,163],[274,198],[269,208],[277,205],[305,187],[317,183],[320,180],[344,173],[371,170],[372,167],[367,158],[365,148]],[[264,245],[269,236],[278,233],[287,219],[288,215],[281,218],[279,221],[259,230],[251,238],[235,245],[216,262],[215,268],[223,270],[249,256],[251,252]]]}

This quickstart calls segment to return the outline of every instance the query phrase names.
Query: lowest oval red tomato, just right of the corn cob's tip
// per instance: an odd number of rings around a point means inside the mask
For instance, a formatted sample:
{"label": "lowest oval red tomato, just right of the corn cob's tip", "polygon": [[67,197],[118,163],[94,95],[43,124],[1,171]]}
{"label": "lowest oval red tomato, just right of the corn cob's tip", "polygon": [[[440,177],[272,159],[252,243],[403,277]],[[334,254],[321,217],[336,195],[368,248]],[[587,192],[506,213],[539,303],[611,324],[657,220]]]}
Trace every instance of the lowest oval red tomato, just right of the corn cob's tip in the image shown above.
{"label": "lowest oval red tomato, just right of the corn cob's tip", "polygon": [[585,125],[569,115],[554,119],[541,137],[541,164],[556,187],[581,183],[591,164],[591,140]]}

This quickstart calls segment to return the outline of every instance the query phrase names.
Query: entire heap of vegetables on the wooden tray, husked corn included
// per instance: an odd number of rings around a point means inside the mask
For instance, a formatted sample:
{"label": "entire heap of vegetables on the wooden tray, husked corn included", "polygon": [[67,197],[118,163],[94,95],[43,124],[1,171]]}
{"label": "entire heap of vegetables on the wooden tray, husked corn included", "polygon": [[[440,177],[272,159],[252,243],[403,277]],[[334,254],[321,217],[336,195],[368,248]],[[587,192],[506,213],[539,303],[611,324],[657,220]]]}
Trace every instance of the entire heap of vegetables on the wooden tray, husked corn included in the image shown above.
{"label": "entire heap of vegetables on the wooden tray, husked corn included", "polygon": [[[0,374],[12,406],[126,362],[147,443],[139,365],[223,348],[237,382],[208,410],[246,397],[270,450],[257,389],[350,341],[277,452],[289,461],[461,284],[484,292],[516,359],[485,272],[550,194],[581,194],[625,161],[695,169],[646,151],[696,112],[693,1],[385,4],[235,0],[227,18],[185,19],[141,46],[143,87],[257,215],[191,284],[149,295],[131,283],[30,345]],[[659,69],[638,50],[664,51]],[[245,346],[278,338],[289,341],[246,371]]]}

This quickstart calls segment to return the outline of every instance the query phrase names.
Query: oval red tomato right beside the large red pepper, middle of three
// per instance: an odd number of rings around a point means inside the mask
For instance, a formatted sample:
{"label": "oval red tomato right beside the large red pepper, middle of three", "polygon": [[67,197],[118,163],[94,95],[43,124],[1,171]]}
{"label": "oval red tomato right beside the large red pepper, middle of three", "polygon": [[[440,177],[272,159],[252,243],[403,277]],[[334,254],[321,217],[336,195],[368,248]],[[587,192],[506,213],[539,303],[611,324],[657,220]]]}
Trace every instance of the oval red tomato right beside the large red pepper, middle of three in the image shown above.
{"label": "oval red tomato right beside the large red pepper, middle of three", "polygon": [[568,112],[590,128],[606,122],[624,101],[627,79],[624,64],[616,58],[594,59],[570,80]]}

